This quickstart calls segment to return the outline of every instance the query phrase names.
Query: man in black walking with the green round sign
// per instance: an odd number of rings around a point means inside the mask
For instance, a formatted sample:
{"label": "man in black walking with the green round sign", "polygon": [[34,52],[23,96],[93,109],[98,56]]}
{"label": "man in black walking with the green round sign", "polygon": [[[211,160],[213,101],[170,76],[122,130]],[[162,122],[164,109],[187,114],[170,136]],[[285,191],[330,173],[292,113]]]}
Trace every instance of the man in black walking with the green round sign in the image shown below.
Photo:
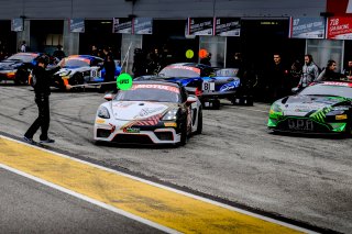
{"label": "man in black walking with the green round sign", "polygon": [[[29,143],[34,143],[33,135],[41,127],[42,134],[40,135],[41,143],[54,143],[55,141],[47,136],[50,125],[50,104],[48,97],[51,94],[51,83],[53,75],[59,70],[61,67],[56,67],[51,70],[46,70],[45,67],[48,64],[47,58],[40,57],[37,59],[37,66],[33,69],[33,76],[35,76],[34,92],[35,103],[38,109],[38,116],[24,134],[24,140]],[[70,89],[70,86],[66,86],[66,89]]]}

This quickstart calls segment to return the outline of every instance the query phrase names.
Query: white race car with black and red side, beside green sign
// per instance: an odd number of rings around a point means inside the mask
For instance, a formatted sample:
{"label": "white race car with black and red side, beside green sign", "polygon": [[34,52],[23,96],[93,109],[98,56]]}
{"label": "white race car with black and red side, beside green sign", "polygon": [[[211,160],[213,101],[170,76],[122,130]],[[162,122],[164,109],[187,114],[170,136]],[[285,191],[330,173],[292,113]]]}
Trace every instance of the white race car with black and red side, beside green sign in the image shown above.
{"label": "white race car with black and red side, beside green sign", "polygon": [[105,99],[96,115],[96,142],[185,145],[202,131],[200,101],[178,83],[135,81]]}

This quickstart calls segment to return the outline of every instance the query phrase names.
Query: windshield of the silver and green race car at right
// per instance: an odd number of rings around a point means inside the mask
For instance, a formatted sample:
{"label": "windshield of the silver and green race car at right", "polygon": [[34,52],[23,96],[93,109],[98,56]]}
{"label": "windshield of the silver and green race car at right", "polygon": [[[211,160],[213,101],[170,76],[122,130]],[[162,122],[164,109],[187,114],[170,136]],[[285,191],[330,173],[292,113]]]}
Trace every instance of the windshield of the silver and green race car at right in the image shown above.
{"label": "windshield of the silver and green race car at right", "polygon": [[305,88],[299,94],[302,96],[337,96],[352,99],[352,85],[345,82],[341,86],[315,85]]}

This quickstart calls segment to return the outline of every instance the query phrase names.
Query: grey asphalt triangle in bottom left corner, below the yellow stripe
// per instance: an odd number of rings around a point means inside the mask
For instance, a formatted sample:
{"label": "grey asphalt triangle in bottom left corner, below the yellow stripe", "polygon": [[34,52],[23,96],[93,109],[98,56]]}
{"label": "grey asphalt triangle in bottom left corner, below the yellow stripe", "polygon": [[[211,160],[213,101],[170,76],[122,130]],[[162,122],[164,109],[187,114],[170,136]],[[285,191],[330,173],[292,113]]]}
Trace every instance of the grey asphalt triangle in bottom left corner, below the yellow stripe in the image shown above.
{"label": "grey asphalt triangle in bottom left corner, below the yellow stripe", "polygon": [[164,233],[0,168],[0,233]]}

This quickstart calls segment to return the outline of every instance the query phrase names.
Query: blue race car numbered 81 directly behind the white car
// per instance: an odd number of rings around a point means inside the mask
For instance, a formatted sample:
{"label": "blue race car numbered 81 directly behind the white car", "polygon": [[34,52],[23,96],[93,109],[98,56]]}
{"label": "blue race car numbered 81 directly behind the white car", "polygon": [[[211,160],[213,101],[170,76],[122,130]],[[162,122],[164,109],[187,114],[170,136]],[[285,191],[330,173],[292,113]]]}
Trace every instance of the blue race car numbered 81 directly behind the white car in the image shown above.
{"label": "blue race car numbered 81 directly behind the white car", "polygon": [[[228,70],[229,73],[223,73]],[[179,82],[189,93],[196,94],[205,108],[220,108],[219,99],[233,99],[240,87],[240,78],[231,69],[216,70],[202,64],[179,63],[164,67],[157,76],[139,77],[135,80],[163,79]]]}

